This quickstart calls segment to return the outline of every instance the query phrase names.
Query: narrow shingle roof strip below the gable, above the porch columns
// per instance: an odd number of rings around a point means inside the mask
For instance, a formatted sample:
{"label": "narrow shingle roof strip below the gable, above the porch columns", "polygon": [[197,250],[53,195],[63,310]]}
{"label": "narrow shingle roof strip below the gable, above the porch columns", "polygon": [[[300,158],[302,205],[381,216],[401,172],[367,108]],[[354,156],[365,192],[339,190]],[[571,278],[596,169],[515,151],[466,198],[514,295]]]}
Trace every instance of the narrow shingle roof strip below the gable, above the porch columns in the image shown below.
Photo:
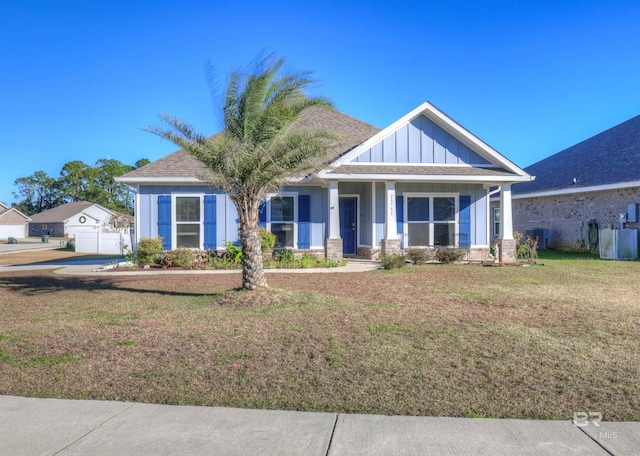
{"label": "narrow shingle roof strip below the gable, above the porch columns", "polygon": [[476,168],[470,166],[429,165],[341,165],[329,174],[398,174],[418,176],[516,176],[502,168]]}

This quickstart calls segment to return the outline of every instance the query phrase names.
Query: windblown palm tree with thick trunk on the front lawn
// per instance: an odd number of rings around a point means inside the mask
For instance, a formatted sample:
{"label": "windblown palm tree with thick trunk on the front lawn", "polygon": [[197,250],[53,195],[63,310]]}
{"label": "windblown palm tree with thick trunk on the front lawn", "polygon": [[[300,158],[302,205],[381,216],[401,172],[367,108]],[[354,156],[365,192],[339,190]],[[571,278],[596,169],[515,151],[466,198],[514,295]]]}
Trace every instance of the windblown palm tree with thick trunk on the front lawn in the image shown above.
{"label": "windblown palm tree with thick trunk on the front lawn", "polygon": [[314,82],[311,72],[285,73],[284,63],[284,58],[270,54],[230,73],[220,103],[224,127],[214,136],[205,137],[168,115],[160,116],[168,129],[146,128],[202,161],[213,175],[210,185],[224,190],[235,204],[246,289],[267,286],[258,227],[260,202],[288,180],[322,168],[333,152],[328,140],[337,139],[326,130],[295,127],[305,109],[330,108],[331,102],[307,96],[304,89]]}

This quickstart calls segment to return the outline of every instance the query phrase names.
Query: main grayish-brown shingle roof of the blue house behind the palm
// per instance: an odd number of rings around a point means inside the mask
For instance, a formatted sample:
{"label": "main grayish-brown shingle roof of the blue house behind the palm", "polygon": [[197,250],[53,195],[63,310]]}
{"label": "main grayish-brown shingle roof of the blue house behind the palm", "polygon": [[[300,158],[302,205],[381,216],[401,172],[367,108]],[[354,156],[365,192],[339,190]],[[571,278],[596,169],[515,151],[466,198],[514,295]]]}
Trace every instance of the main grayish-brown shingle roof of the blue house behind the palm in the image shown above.
{"label": "main grayish-brown shingle roof of the blue house behind the palm", "polygon": [[[306,109],[294,128],[300,130],[326,129],[340,136],[336,150],[338,155],[348,152],[380,131],[361,120],[334,109],[311,107]],[[123,178],[206,178],[206,166],[184,150],[173,152],[159,160],[131,171]]]}

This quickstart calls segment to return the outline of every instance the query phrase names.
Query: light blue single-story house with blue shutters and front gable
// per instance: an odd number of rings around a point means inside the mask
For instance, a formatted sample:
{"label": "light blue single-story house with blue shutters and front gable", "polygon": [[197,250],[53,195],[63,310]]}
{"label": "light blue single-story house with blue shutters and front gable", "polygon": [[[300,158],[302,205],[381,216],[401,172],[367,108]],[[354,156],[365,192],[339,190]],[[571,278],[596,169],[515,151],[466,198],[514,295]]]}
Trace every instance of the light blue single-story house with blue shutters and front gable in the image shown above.
{"label": "light blue single-story house with blue shutters and front gable", "polygon": [[[295,128],[334,131],[341,143],[325,169],[265,201],[260,224],[276,234],[277,247],[330,258],[464,247],[471,259],[484,259],[489,188],[499,186],[507,214],[502,260],[515,261],[511,185],[532,177],[432,104],[382,130],[313,107]],[[207,174],[179,150],[117,178],[135,189],[137,239],[161,236],[165,249],[224,249],[224,241],[236,242],[235,207],[207,185]]]}

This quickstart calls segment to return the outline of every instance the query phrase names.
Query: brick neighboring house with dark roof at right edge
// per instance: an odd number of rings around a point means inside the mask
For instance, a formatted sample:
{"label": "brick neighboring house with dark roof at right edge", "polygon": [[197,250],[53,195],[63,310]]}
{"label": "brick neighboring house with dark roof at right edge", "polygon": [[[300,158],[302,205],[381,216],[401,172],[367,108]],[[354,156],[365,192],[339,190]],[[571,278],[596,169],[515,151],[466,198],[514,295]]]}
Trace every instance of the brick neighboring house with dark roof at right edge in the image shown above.
{"label": "brick neighboring house with dark roof at right edge", "polygon": [[[513,189],[514,229],[544,232],[550,248],[589,247],[597,230],[609,225],[640,228],[640,116],[525,171],[536,180]],[[493,204],[495,232],[500,209]]]}

